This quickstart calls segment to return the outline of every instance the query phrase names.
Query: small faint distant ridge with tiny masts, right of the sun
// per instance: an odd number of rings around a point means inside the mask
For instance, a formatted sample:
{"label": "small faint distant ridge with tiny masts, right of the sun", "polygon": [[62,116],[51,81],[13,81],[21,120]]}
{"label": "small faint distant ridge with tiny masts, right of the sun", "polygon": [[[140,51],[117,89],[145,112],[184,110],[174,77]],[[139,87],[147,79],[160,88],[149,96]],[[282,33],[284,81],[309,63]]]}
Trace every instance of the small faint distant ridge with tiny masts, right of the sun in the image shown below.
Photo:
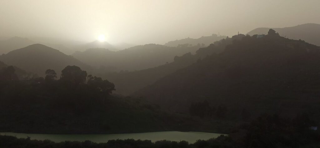
{"label": "small faint distant ridge with tiny masts, right of the sun", "polygon": [[197,39],[194,38],[185,38],[185,39],[180,39],[180,40],[175,40],[175,41],[170,41],[168,43],[165,43],[164,45],[166,46],[171,46],[171,47],[176,47],[178,45],[183,45],[183,44],[191,44],[191,45],[198,45],[198,44],[204,44],[204,46],[209,46],[215,41],[219,41],[221,39],[226,38],[226,36],[218,36],[216,34],[212,34],[212,36],[208,37],[200,37]]}

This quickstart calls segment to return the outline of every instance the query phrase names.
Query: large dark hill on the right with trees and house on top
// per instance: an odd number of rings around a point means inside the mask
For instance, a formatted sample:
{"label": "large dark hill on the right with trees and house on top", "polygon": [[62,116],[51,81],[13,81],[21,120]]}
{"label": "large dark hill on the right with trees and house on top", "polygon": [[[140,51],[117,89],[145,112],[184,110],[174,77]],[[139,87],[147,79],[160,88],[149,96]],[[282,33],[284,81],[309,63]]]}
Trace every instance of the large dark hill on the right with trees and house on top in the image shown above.
{"label": "large dark hill on the right with trees and house on top", "polygon": [[[320,114],[320,47],[280,37],[246,36],[225,51],[178,70],[136,93],[173,111],[220,118],[256,117],[261,112]],[[203,102],[206,100],[207,102]],[[216,110],[215,110],[216,109]]]}

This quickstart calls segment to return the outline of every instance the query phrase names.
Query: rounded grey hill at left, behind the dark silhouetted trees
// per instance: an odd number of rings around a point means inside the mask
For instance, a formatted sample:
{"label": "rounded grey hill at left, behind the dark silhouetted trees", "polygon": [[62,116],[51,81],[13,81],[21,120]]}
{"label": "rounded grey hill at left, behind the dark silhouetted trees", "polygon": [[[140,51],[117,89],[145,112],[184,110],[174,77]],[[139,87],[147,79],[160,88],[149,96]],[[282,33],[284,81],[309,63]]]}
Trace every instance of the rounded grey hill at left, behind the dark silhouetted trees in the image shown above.
{"label": "rounded grey hill at left, behind the dark silhouetted trees", "polygon": [[76,65],[84,70],[91,71],[91,67],[51,47],[33,44],[27,47],[13,50],[0,56],[0,61],[8,65],[14,65],[28,72],[44,76],[47,69],[53,69],[60,75],[63,68],[68,65]]}

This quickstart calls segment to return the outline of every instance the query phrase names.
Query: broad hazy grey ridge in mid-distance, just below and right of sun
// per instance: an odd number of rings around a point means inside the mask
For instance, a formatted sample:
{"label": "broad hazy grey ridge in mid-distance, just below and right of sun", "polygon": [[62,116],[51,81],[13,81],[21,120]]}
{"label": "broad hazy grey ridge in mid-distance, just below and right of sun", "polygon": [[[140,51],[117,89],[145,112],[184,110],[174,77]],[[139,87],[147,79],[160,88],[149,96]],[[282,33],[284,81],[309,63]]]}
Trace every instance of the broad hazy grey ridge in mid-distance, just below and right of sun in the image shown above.
{"label": "broad hazy grey ridge in mid-distance, just below and right of sun", "polygon": [[143,70],[160,66],[172,62],[175,56],[181,56],[188,52],[195,53],[200,47],[187,45],[168,47],[147,44],[116,52],[104,48],[93,48],[84,52],[76,52],[73,56],[84,63],[100,68],[100,73],[105,73],[121,70]]}

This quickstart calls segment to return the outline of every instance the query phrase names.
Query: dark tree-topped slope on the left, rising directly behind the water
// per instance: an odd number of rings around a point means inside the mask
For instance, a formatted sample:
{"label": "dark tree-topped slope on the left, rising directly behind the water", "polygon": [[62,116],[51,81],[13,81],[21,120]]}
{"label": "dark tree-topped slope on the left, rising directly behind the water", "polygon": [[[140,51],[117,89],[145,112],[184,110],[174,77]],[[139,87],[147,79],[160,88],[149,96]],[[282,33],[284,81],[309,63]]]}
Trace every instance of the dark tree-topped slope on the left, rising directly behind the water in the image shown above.
{"label": "dark tree-topped slope on the left, rising directly behind the water", "polygon": [[49,69],[45,71],[45,78],[19,80],[12,66],[1,69],[0,76],[0,132],[106,134],[179,130],[227,133],[233,124],[219,125],[214,120],[165,112],[139,98],[112,95],[113,83],[87,75],[77,66],[63,69],[60,79]]}

